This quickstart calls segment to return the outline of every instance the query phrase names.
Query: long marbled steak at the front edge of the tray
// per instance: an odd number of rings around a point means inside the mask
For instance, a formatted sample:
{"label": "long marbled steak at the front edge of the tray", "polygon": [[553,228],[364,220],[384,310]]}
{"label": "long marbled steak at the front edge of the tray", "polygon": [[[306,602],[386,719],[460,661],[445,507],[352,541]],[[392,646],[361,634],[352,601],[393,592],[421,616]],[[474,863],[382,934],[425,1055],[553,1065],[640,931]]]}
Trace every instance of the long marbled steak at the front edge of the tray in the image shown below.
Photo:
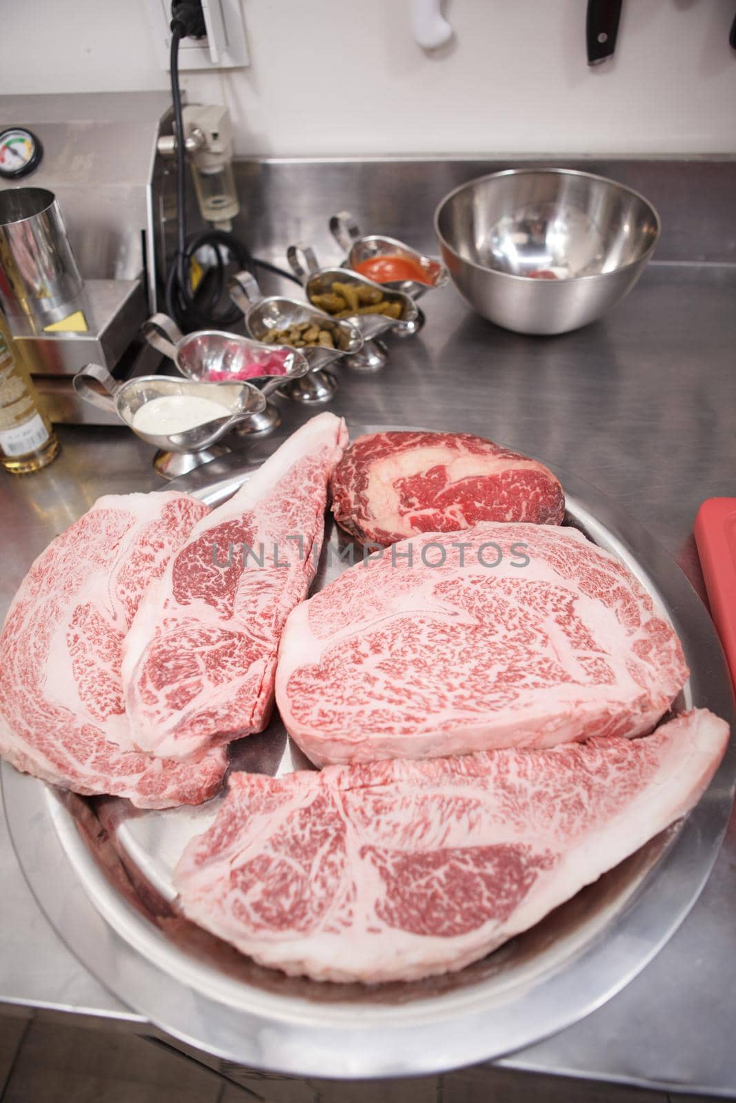
{"label": "long marbled steak at the front edge of the tray", "polygon": [[702,709],[636,740],[237,773],[177,866],[181,907],[290,975],[459,970],[684,815],[727,738]]}

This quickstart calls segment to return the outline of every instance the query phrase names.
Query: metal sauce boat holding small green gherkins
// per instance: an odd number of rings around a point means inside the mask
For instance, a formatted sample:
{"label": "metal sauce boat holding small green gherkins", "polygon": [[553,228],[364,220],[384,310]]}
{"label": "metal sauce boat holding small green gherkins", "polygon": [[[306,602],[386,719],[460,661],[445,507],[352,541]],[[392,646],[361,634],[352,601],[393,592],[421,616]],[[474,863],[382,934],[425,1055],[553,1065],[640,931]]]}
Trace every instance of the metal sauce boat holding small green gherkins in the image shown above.
{"label": "metal sauce boat holding small green gherkins", "polygon": [[[290,245],[286,251],[287,259],[295,276],[301,280],[309,301],[314,306],[314,296],[332,291],[333,283],[350,283],[353,287],[370,287],[381,292],[386,302],[398,303],[401,315],[388,318],[386,314],[352,314],[348,321],[354,322],[363,334],[362,350],[345,357],[345,364],[356,372],[377,372],[386,363],[386,346],[377,341],[388,330],[404,331],[404,335],[413,335],[420,329],[419,308],[414,299],[404,291],[392,291],[385,283],[375,283],[366,276],[354,272],[350,268],[320,268],[314,250],[309,245],[298,243]],[[319,309],[319,308],[317,308]],[[327,315],[328,318],[330,314]]]}

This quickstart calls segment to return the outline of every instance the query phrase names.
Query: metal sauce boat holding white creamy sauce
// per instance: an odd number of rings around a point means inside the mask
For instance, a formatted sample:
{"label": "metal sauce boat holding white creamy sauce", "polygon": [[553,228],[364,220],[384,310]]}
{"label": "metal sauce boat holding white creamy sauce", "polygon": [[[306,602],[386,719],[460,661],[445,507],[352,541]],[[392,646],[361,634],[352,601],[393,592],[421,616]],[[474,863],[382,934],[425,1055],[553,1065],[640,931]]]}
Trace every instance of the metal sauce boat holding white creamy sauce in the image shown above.
{"label": "metal sauce boat holding white creamy sauce", "polygon": [[[119,383],[100,364],[86,364],[74,376],[74,389],[81,398],[107,413],[116,414],[129,429],[160,451],[153,467],[164,479],[175,479],[195,467],[206,463],[225,449],[212,446],[243,420],[263,413],[266,398],[250,383],[198,383],[175,379],[170,375],[141,375]],[[214,421],[175,433],[141,432],[132,421],[146,403],[166,395],[194,395],[210,398],[225,407],[225,415]]]}

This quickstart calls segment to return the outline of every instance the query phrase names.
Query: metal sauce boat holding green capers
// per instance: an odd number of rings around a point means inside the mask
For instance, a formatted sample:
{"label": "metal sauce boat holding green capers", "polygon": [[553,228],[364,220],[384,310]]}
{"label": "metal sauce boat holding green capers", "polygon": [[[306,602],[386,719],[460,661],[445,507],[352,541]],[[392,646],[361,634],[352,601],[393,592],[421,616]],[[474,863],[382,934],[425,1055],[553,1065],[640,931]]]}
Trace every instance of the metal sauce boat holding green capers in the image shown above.
{"label": "metal sauce boat holding green capers", "polygon": [[[236,272],[227,286],[231,299],[245,315],[245,329],[255,341],[263,342],[269,332],[288,330],[301,322],[329,330],[334,347],[316,345],[296,350],[309,364],[309,373],[281,387],[284,394],[298,403],[314,405],[329,401],[338,389],[338,381],[326,367],[343,356],[354,356],[361,351],[363,336],[360,329],[350,321],[330,318],[323,311],[297,299],[278,295],[264,296],[257,281],[247,271]],[[290,349],[291,345],[278,347]]]}

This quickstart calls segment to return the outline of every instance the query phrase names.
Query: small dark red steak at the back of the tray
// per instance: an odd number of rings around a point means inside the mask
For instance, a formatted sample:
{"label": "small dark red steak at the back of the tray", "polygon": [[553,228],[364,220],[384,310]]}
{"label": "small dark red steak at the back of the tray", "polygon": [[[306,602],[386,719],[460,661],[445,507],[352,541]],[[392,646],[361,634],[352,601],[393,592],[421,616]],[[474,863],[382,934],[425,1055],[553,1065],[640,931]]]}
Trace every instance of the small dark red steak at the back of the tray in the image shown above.
{"label": "small dark red steak at the back of the tray", "polygon": [[565,514],[563,489],[543,463],[469,432],[358,437],[331,490],[338,524],[381,546],[481,521],[558,525]]}

